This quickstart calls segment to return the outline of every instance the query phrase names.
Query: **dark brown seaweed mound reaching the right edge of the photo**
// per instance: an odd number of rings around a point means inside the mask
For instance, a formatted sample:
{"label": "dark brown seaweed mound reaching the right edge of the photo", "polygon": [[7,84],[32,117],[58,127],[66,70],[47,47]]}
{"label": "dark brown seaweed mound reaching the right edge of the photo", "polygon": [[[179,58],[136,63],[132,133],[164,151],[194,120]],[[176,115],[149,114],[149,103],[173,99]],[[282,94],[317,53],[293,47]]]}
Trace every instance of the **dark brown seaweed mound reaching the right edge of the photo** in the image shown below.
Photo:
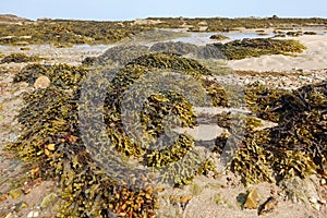
{"label": "dark brown seaweed mound reaching the right edge of the photo", "polygon": [[[250,130],[237,142],[239,149],[230,164],[231,170],[241,174],[244,183],[279,182],[312,173],[326,178],[326,90],[327,82],[293,92],[269,90],[257,84],[250,87],[246,101],[252,111],[263,119],[277,121],[278,125]],[[221,152],[227,141],[227,135],[218,137],[216,150]]]}

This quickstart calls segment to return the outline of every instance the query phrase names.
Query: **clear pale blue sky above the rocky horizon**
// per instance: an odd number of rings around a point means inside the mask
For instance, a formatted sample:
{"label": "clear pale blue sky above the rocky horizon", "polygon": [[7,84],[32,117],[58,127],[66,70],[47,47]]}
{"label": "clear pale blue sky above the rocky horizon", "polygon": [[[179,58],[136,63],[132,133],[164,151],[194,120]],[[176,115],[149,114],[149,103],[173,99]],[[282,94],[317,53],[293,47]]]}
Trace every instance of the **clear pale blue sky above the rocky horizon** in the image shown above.
{"label": "clear pale blue sky above the rocky horizon", "polygon": [[327,0],[0,0],[0,14],[80,20],[185,17],[327,17]]}

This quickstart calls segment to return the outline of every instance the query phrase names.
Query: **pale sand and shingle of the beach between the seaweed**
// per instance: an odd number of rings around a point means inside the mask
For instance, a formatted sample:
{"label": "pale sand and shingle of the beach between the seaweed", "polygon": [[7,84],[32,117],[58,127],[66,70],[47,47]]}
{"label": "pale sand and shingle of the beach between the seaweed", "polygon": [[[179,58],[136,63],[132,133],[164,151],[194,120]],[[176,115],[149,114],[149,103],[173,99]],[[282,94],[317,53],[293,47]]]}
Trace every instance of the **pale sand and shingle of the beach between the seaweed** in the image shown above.
{"label": "pale sand and shingle of the beach between the seaweed", "polygon": [[[270,31],[271,29],[267,29],[267,32]],[[272,55],[227,61],[227,66],[235,72],[234,75],[237,77],[232,77],[232,80],[243,85],[259,82],[265,85],[287,89],[294,89],[302,85],[327,80],[327,35],[305,35],[300,37],[287,37],[287,39],[299,40],[307,49],[304,50],[303,53],[296,53],[295,57]],[[28,46],[31,50],[24,52],[47,58],[48,63],[64,62],[77,65],[85,57],[99,56],[110,46],[73,46],[72,48],[58,49],[47,45],[32,45]],[[20,48],[5,46],[2,47],[1,51],[4,55],[9,55],[11,52],[20,51]],[[22,93],[24,90],[31,92],[31,87],[27,87],[26,83],[13,84],[12,80],[25,65],[26,63],[9,63],[0,65],[0,83],[5,84],[1,89],[2,93],[0,96],[1,128],[4,130],[0,133],[0,148],[3,148],[7,143],[14,142],[21,133],[15,116],[17,114],[19,109],[23,107]],[[202,108],[197,110],[197,112],[210,114],[217,114],[223,111],[217,108]],[[269,125],[271,125],[271,123],[267,123],[266,126]],[[183,132],[185,130],[179,131]],[[220,135],[222,131],[223,130],[218,125],[208,124],[189,129],[187,133],[193,134],[196,140],[209,141]],[[7,165],[8,161],[4,160],[2,167],[5,168],[8,167]],[[11,173],[13,172],[9,172],[8,177],[10,177]],[[241,183],[240,178],[231,172],[218,174],[215,179],[205,175],[195,177],[195,180],[191,185],[179,189],[165,186],[166,190],[159,194],[161,208],[157,211],[157,217],[256,218],[258,217],[256,209],[243,209],[238,201],[240,194],[244,194],[250,190],[257,190],[261,204],[274,193],[274,196],[278,201],[278,205],[274,211],[265,215],[267,218],[323,218],[327,215],[327,185],[324,179],[313,175],[302,182],[299,180],[286,180],[283,182],[290,184],[288,190],[290,193],[299,194],[303,201],[293,201],[291,196],[287,195],[277,184],[261,183],[244,186]],[[8,186],[5,187],[9,189]],[[12,199],[5,195],[9,199],[0,199],[0,208],[5,211],[3,217],[12,218],[14,217],[13,214],[15,214],[15,216],[17,215],[16,217],[26,217],[33,210],[38,211],[38,217],[55,217],[56,209],[48,208],[43,210],[39,207],[44,196],[48,196],[51,193],[56,193],[58,196],[60,195],[60,191],[55,182],[43,181],[37,187],[33,187],[29,194],[23,194],[16,199]],[[0,190],[0,197],[1,194]],[[169,201],[171,196],[191,196],[191,198],[187,201],[185,208],[182,209],[180,203],[171,204]],[[28,206],[26,208],[21,209],[19,213],[13,211],[13,205],[27,201]],[[0,215],[2,215],[1,209]]]}

